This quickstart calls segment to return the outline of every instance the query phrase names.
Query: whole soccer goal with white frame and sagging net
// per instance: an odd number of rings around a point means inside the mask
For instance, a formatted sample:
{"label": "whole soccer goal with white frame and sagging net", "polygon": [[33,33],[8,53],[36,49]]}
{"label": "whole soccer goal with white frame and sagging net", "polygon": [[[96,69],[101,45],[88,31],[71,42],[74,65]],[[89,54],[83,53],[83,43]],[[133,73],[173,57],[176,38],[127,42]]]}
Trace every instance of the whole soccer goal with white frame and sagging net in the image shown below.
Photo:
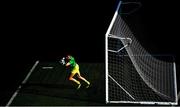
{"label": "whole soccer goal with white frame and sagging net", "polygon": [[105,38],[106,103],[177,105],[175,62],[158,60],[140,45],[121,18],[122,4]]}

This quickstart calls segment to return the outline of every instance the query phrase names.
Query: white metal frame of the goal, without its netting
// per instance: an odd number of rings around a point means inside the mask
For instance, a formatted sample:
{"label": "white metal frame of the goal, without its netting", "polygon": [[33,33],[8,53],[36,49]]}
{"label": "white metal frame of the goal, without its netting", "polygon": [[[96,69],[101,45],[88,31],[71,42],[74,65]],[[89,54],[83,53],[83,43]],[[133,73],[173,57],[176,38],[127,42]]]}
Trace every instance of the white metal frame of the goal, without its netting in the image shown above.
{"label": "white metal frame of the goal, without its netting", "polygon": [[[109,90],[109,86],[108,86],[108,81],[109,81],[109,73],[108,73],[108,51],[109,51],[108,50],[108,38],[112,37],[112,38],[119,39],[119,40],[121,40],[121,39],[129,39],[130,42],[132,42],[131,38],[120,38],[120,37],[116,38],[116,37],[111,36],[111,34],[110,34],[110,31],[111,31],[111,29],[113,27],[113,24],[114,24],[114,22],[116,20],[116,17],[118,16],[118,10],[120,9],[121,4],[122,4],[122,1],[120,0],[118,5],[117,5],[117,8],[115,10],[114,16],[113,16],[113,18],[112,18],[112,20],[110,22],[110,25],[109,25],[109,27],[107,29],[107,32],[105,34],[105,90],[106,90],[105,91],[105,94],[106,94],[105,95],[106,96],[105,100],[106,100],[106,104],[107,103],[129,103],[129,104],[147,104],[147,105],[149,105],[149,104],[150,105],[154,105],[154,104],[156,104],[156,105],[177,105],[178,104],[178,98],[177,98],[177,79],[176,79],[176,64],[175,64],[175,62],[173,62],[174,85],[175,85],[175,102],[159,102],[159,101],[158,102],[155,102],[155,101],[110,101],[109,100],[109,93],[108,93],[108,90]],[[122,48],[125,48],[125,47],[126,46],[124,45],[124,47],[122,47]],[[117,52],[121,51],[122,48],[119,49],[118,51],[113,51],[113,50],[111,50],[111,51],[117,53]]]}

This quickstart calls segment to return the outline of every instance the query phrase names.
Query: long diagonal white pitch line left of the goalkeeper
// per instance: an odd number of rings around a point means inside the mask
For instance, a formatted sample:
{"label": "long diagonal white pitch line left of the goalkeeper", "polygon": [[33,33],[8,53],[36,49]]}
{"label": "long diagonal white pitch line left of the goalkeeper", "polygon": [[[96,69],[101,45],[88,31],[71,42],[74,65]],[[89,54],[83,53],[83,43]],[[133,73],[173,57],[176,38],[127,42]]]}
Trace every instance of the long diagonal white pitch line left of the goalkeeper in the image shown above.
{"label": "long diagonal white pitch line left of the goalkeeper", "polygon": [[6,107],[9,107],[12,103],[12,101],[14,100],[14,98],[17,96],[17,94],[19,93],[22,84],[26,83],[26,81],[29,79],[31,73],[34,71],[35,67],[37,66],[37,64],[39,63],[39,61],[36,61],[36,63],[33,65],[33,67],[31,68],[31,70],[29,71],[28,75],[26,76],[26,78],[22,81],[22,83],[19,85],[19,87],[17,88],[17,90],[14,92],[14,94],[12,95],[11,99],[8,101],[8,103],[6,104]]}

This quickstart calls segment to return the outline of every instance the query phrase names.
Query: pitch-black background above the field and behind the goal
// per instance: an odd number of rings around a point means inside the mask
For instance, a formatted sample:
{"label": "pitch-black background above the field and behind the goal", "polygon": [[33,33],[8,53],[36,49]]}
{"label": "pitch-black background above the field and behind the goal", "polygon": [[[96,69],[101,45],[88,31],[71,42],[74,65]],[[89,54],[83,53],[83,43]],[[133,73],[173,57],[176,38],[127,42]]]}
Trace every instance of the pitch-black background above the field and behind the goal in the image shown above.
{"label": "pitch-black background above the field and behind the goal", "polygon": [[[5,91],[15,90],[27,74],[25,71],[36,60],[57,61],[65,54],[72,54],[79,62],[104,63],[105,33],[117,2],[68,0],[2,3],[2,95],[6,98],[11,96],[11,93],[6,95]],[[132,30],[148,52],[174,56],[179,75],[178,3],[163,0],[142,0],[141,3],[140,10],[127,17],[129,23],[135,23],[131,24]],[[6,101],[1,99],[1,103]]]}

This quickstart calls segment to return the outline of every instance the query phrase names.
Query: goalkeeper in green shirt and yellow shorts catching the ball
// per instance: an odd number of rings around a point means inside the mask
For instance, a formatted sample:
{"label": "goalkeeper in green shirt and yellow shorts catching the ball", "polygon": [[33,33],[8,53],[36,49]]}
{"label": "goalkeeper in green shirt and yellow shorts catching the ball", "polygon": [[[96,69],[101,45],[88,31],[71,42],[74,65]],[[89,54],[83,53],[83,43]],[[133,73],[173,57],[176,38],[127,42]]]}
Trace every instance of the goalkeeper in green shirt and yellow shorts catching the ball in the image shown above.
{"label": "goalkeeper in green shirt and yellow shorts catching the ball", "polygon": [[81,76],[80,71],[79,71],[79,65],[76,63],[74,57],[67,55],[65,58],[63,58],[61,60],[61,63],[63,65],[65,65],[66,67],[70,67],[71,74],[69,76],[69,80],[75,82],[78,85],[77,89],[79,89],[81,87],[81,83],[78,80],[76,80],[75,78],[73,78],[76,74],[79,79],[81,79],[87,83],[86,88],[89,87],[90,82]]}

